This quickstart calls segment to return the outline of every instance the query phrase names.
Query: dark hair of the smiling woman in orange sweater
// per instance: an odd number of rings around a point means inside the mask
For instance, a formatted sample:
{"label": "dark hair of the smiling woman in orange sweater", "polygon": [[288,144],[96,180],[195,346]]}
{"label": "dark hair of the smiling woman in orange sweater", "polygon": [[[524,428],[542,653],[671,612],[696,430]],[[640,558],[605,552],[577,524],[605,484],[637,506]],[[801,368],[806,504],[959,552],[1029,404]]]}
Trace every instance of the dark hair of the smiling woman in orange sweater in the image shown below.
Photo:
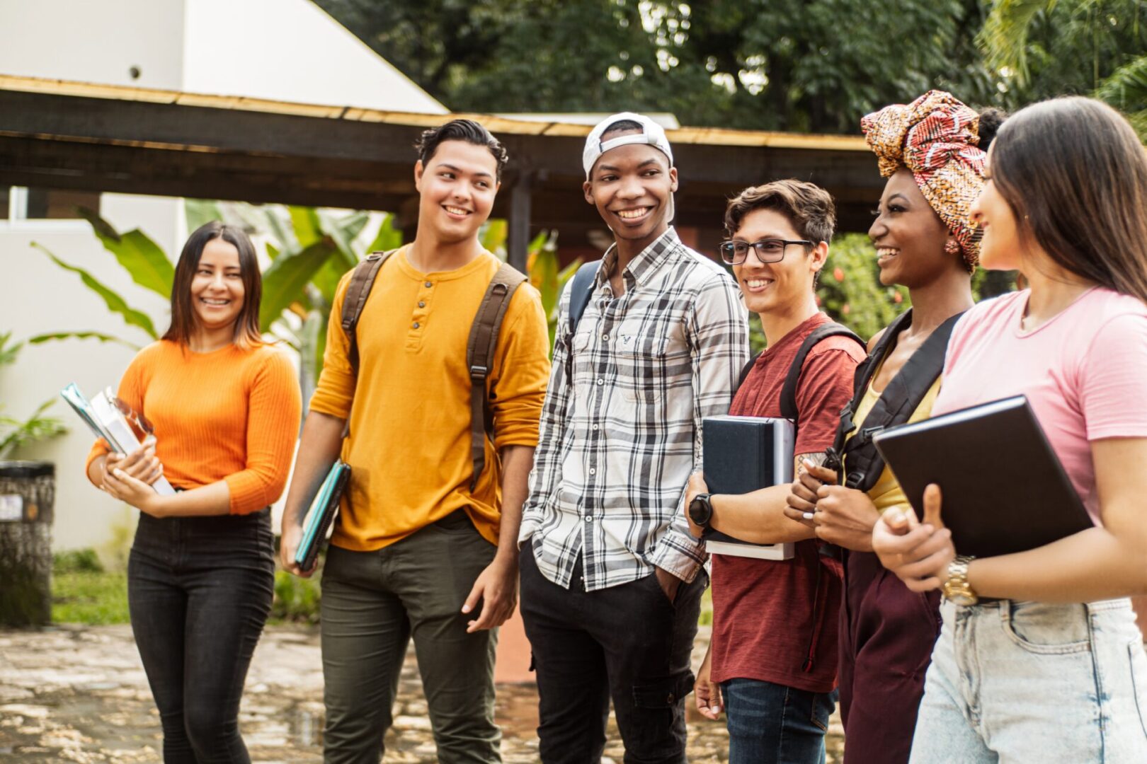
{"label": "dark hair of the smiling woman in orange sweater", "polygon": [[259,333],[259,300],[263,297],[263,276],[255,245],[242,229],[212,220],[195,229],[175,263],[175,279],[171,286],[171,325],[163,338],[187,345],[195,332],[195,308],[192,307],[192,279],[203,257],[203,247],[212,239],[221,238],[239,250],[239,271],[243,281],[243,309],[235,318],[233,341],[247,349],[262,344]]}

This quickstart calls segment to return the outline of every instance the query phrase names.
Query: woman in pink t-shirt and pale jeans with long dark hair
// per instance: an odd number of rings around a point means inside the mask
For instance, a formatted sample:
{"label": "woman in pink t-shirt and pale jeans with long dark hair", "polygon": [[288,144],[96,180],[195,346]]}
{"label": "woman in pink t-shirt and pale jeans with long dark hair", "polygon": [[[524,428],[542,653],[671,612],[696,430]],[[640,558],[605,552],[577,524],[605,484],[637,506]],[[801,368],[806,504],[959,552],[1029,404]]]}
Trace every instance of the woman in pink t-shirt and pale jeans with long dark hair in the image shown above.
{"label": "woman in pink t-shirt and pale jeans with long dark hair", "polygon": [[922,523],[877,521],[884,566],[949,598],[911,761],[1145,762],[1147,155],[1115,110],[1058,99],[1004,124],[985,178],[981,263],[1030,289],[957,324],[933,413],[1027,395],[1097,527],[959,557],[935,486]]}

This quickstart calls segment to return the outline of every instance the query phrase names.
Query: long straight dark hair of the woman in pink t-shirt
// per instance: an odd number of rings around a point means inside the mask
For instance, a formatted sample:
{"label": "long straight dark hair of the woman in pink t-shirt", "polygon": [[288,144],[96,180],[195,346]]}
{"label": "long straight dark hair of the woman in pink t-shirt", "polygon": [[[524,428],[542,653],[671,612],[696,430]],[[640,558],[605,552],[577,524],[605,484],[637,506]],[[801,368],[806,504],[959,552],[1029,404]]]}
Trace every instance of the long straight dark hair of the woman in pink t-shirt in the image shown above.
{"label": "long straight dark hair of the woman in pink t-shirt", "polygon": [[996,136],[990,172],[1021,237],[1147,301],[1147,153],[1119,112],[1080,96],[1021,109]]}

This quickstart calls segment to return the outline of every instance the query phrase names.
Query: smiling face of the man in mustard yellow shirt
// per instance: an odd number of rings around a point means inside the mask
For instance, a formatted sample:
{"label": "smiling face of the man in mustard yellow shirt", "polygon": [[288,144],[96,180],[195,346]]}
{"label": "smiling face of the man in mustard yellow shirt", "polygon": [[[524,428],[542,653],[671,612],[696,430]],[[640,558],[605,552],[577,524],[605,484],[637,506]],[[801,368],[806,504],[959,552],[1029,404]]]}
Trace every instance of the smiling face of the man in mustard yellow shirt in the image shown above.
{"label": "smiling face of the man in mustard yellow shirt", "polygon": [[414,165],[419,228],[444,243],[474,238],[490,218],[498,194],[498,160],[490,149],[467,141],[443,141],[426,166]]}

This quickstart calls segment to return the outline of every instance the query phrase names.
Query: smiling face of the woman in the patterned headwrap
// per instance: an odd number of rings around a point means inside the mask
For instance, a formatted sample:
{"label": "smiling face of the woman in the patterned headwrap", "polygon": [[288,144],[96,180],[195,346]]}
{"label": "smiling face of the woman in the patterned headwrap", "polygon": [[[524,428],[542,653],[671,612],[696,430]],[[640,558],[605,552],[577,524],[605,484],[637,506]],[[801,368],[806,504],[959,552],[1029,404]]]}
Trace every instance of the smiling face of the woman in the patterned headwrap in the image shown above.
{"label": "smiling face of the woman in the patterned headwrap", "polygon": [[881,284],[911,289],[928,283],[942,269],[963,268],[959,254],[944,251],[952,235],[904,168],[884,184],[868,237],[876,245]]}

